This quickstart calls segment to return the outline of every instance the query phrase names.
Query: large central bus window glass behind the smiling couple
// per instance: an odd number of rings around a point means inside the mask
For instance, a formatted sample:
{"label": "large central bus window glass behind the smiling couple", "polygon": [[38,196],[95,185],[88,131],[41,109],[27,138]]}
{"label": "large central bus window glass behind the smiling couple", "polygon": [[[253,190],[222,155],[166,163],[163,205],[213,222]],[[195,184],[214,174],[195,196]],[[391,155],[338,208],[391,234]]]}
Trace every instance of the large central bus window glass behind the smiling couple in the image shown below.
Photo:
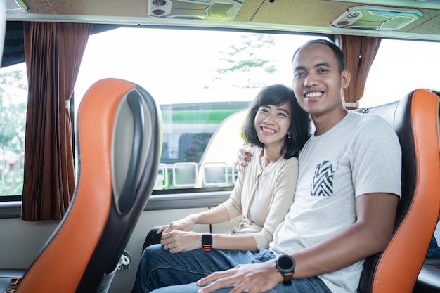
{"label": "large central bus window glass behind the smiling couple", "polygon": [[231,188],[240,126],[257,92],[291,85],[292,53],[316,36],[124,27],[89,38],[75,100],[105,77],[150,92],[162,111],[157,190]]}

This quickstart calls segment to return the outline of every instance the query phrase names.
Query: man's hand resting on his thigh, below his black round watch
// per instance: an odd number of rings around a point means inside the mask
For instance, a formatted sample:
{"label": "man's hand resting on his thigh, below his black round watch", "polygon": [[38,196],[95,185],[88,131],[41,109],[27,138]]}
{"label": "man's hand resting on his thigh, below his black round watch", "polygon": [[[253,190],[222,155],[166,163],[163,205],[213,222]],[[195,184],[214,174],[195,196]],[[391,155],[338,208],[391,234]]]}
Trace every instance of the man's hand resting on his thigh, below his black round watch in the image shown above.
{"label": "man's hand resting on his thigh, below his black round watch", "polygon": [[228,271],[212,273],[198,280],[197,285],[206,285],[200,288],[198,293],[210,293],[227,287],[233,287],[229,293],[261,293],[273,289],[280,282],[283,282],[283,276],[276,271],[273,259],[265,263],[245,264]]}

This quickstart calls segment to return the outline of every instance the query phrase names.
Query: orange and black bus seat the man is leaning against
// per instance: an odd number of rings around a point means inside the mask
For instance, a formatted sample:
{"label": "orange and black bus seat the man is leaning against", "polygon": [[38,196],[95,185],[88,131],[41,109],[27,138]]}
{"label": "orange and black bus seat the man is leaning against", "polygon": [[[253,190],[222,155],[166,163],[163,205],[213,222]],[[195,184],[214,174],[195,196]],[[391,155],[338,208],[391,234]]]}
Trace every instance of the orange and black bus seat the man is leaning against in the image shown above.
{"label": "orange and black bus seat the man is leaning against", "polygon": [[356,111],[386,119],[402,149],[402,198],[394,234],[384,252],[366,259],[358,292],[410,293],[439,217],[439,96],[416,89],[394,103]]}

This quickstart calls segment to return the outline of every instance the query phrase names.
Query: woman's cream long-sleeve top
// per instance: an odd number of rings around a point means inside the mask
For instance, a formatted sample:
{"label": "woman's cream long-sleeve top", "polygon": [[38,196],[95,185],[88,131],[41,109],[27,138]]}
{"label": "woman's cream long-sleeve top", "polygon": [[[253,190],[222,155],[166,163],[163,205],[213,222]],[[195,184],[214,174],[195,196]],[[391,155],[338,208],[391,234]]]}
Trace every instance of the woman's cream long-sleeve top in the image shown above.
{"label": "woman's cream long-sleeve top", "polygon": [[233,220],[241,216],[230,234],[254,233],[257,247],[268,248],[273,231],[284,220],[295,195],[298,159],[292,157],[261,167],[262,148],[252,147],[251,162],[238,174],[229,199],[224,202]]}

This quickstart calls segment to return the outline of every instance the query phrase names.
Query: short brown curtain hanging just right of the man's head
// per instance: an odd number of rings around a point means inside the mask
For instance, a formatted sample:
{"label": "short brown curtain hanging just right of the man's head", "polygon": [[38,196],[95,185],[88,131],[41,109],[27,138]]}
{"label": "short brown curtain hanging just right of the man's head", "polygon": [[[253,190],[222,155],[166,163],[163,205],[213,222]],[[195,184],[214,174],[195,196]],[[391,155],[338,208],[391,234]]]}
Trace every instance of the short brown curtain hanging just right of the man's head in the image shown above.
{"label": "short brown curtain hanging just right of the man's head", "polygon": [[[347,36],[341,37],[341,48],[345,54],[345,63],[351,73],[351,82],[344,89],[344,102],[357,103],[363,96],[368,72],[380,46],[380,37]],[[349,104],[350,105],[350,104]],[[348,110],[358,106],[351,105]]]}

